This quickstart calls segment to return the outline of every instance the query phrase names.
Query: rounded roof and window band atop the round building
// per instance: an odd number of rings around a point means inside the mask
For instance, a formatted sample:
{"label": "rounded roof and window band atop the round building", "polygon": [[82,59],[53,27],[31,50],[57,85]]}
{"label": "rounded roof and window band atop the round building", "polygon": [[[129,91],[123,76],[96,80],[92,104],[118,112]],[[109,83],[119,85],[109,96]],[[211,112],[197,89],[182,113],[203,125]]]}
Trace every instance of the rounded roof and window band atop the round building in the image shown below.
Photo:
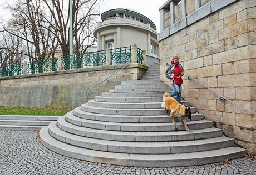
{"label": "rounded roof and window band atop the round building", "polygon": [[[152,20],[144,16],[143,14],[140,14],[139,12],[135,11],[131,8],[116,8],[116,9],[110,9],[109,11],[103,12],[101,14],[101,20],[107,20],[109,18],[116,18],[117,14],[125,14],[127,16],[130,16],[131,19],[140,19],[140,22],[143,22],[145,24],[150,24],[150,27],[156,30],[156,25]],[[128,17],[129,18],[129,17]]]}

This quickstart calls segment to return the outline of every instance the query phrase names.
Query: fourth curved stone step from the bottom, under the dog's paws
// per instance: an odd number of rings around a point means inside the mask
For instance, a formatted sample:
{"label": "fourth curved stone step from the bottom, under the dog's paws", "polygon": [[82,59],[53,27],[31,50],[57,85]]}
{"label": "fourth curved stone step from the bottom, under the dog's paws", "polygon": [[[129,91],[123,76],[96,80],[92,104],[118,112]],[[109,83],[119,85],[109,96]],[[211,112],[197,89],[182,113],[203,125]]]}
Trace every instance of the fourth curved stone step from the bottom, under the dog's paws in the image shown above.
{"label": "fourth curved stone step from the bottom, under the dog's paws", "polygon": [[[174,125],[172,122],[165,123],[122,123],[122,122],[105,122],[105,121],[96,121],[81,119],[73,115],[73,112],[70,111],[66,115],[66,121],[77,126],[84,126],[88,128],[95,128],[99,130],[111,130],[111,131],[142,131],[142,132],[156,132],[156,131],[179,131],[185,130],[185,127],[181,122],[177,122]],[[213,127],[211,121],[200,120],[200,121],[188,121],[188,127],[190,130],[199,130],[201,128],[210,128]]]}

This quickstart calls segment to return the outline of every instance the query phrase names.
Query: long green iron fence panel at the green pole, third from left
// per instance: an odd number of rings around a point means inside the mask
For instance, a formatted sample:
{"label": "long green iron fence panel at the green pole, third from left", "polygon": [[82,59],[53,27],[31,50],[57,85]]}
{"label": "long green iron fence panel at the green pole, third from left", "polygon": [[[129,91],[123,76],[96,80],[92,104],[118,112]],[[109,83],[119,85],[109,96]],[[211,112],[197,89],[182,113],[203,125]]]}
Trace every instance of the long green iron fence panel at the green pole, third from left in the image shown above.
{"label": "long green iron fence panel at the green pole, third from left", "polygon": [[64,70],[96,67],[106,64],[106,51],[90,52],[85,54],[63,56]]}

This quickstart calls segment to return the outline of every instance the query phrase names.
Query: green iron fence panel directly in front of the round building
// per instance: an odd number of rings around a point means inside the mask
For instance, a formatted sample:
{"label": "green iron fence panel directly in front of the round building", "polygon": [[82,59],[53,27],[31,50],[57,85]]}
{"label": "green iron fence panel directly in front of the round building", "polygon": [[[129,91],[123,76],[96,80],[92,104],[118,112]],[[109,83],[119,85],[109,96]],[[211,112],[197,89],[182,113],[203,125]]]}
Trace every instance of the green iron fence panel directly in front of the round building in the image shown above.
{"label": "green iron fence panel directly in front of the round building", "polygon": [[110,64],[131,63],[131,46],[110,49]]}

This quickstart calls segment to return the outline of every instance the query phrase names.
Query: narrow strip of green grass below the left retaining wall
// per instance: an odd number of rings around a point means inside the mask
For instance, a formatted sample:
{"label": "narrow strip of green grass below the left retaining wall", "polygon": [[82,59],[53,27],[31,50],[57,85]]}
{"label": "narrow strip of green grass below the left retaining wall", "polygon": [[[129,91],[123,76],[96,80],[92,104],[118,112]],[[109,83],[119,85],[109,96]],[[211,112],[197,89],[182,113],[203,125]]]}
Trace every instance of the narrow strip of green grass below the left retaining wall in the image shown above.
{"label": "narrow strip of green grass below the left retaining wall", "polygon": [[8,107],[0,106],[0,115],[53,115],[62,116],[71,108],[38,108],[38,107]]}

